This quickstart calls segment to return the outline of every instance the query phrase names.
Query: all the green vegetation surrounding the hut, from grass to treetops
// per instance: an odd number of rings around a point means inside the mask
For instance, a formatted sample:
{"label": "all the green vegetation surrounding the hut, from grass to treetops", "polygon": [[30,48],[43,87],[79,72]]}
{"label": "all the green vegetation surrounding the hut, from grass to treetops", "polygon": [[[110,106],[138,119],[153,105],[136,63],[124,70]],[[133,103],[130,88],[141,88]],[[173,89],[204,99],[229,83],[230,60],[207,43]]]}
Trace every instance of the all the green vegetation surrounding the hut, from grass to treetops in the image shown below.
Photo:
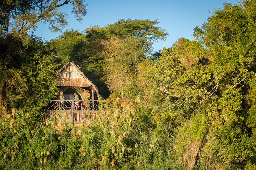
{"label": "all the green vegetation surrounding the hut, from grass to treetops", "polygon": [[[42,42],[26,29],[8,31],[7,14],[1,169],[256,169],[255,0],[224,4],[195,27],[196,41],[181,38],[155,54],[152,43],[168,35],[157,20],[118,20]],[[42,121],[55,72],[68,61],[102,96],[111,93],[93,125],[74,127],[61,112]]]}

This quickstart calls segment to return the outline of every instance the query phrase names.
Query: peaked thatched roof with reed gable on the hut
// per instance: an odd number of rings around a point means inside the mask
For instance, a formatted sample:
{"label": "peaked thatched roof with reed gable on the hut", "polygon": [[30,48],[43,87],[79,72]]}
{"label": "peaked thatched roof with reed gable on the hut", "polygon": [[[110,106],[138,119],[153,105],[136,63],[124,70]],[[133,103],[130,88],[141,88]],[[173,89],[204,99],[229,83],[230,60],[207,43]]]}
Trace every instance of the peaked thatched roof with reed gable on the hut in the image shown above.
{"label": "peaked thatched roof with reed gable on the hut", "polygon": [[90,87],[98,93],[98,88],[94,85],[85,74],[73,62],[68,62],[63,66],[58,73],[57,81],[61,86],[76,86],[76,87]]}

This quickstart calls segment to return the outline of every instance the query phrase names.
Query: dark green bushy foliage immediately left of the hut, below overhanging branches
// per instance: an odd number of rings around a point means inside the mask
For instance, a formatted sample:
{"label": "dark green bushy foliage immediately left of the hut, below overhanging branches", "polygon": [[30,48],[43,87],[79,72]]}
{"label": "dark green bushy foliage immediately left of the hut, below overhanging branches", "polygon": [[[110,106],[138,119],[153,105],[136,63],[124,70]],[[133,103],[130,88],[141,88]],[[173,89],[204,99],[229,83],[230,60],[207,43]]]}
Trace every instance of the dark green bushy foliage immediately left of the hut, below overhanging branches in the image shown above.
{"label": "dark green bushy foliage immediately left of the hut, below overhanging branches", "polygon": [[[4,98],[2,106],[7,111],[16,108],[30,112],[32,119],[42,119],[42,108],[46,101],[56,96],[55,57],[38,39],[31,40],[32,46],[24,50],[23,58],[16,58],[12,66],[2,66]],[[2,107],[1,106],[1,107]],[[4,112],[2,112],[4,114]]]}

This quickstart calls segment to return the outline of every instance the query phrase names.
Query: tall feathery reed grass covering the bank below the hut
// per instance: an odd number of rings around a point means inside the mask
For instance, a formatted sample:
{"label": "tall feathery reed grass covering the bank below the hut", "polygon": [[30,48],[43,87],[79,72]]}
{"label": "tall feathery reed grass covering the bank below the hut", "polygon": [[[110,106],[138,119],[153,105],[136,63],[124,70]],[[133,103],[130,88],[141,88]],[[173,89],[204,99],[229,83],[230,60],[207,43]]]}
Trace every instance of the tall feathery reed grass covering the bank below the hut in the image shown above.
{"label": "tall feathery reed grass covering the bank below the hut", "polygon": [[214,155],[201,154],[202,145],[193,140],[181,145],[180,132],[189,123],[174,128],[178,112],[143,109],[138,102],[118,96],[100,100],[99,119],[79,127],[61,111],[43,123],[22,111],[4,115],[0,169],[223,169]]}

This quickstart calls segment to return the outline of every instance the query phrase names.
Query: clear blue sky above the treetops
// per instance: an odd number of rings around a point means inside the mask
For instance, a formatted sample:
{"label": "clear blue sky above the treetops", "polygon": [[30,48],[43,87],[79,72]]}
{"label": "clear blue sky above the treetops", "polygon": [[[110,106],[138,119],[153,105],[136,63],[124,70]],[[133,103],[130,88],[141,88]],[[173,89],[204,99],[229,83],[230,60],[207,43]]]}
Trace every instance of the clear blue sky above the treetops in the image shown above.
{"label": "clear blue sky above the treetops", "polygon": [[[106,26],[118,19],[155,20],[160,22],[157,26],[166,30],[169,34],[166,41],[155,42],[154,51],[171,47],[179,38],[193,40],[193,28],[199,26],[211,16],[214,9],[223,9],[223,4],[238,4],[237,0],[88,0],[88,14],[83,17],[81,23],[71,14],[71,5],[63,6],[61,11],[68,16],[69,27],[83,31],[90,25]],[[37,24],[36,36],[43,37],[47,41],[56,38],[60,33],[52,33],[48,25]],[[63,30],[66,31],[66,30]]]}

